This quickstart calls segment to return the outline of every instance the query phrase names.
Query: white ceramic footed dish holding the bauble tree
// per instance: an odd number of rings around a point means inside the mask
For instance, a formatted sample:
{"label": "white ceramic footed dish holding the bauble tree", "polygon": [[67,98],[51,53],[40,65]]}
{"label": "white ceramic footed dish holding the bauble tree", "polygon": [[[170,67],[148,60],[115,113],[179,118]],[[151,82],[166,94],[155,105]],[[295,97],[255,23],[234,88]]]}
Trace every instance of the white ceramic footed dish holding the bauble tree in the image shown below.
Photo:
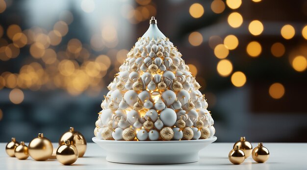
{"label": "white ceramic footed dish holding the bauble tree", "polygon": [[190,141],[107,141],[92,140],[106,152],[106,160],[125,164],[181,164],[197,162],[198,152],[216,141],[209,139]]}

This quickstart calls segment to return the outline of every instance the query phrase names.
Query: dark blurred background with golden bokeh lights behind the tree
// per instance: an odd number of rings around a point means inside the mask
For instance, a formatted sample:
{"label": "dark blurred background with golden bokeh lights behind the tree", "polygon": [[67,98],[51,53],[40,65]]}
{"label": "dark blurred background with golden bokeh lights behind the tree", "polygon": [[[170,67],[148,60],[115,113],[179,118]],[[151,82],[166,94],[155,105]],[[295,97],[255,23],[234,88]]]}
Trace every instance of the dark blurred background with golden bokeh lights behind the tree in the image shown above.
{"label": "dark blurred background with golden bokeh lights behind the tree", "polygon": [[307,142],[306,0],[0,0],[0,142],[91,142],[106,86],[155,16],[217,142]]}

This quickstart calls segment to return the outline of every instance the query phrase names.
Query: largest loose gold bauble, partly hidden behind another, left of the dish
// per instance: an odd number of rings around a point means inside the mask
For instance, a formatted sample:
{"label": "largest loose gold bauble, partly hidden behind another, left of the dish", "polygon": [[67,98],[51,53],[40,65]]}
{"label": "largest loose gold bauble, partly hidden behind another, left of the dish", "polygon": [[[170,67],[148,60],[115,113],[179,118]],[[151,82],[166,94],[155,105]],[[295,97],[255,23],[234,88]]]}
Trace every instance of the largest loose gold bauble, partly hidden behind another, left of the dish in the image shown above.
{"label": "largest loose gold bauble, partly hidden behind another, left of the dish", "polygon": [[73,143],[74,146],[77,147],[79,157],[82,157],[84,155],[86,151],[86,140],[80,132],[75,131],[74,127],[70,127],[69,131],[61,136],[59,140],[59,145],[65,144],[66,140],[69,140]]}

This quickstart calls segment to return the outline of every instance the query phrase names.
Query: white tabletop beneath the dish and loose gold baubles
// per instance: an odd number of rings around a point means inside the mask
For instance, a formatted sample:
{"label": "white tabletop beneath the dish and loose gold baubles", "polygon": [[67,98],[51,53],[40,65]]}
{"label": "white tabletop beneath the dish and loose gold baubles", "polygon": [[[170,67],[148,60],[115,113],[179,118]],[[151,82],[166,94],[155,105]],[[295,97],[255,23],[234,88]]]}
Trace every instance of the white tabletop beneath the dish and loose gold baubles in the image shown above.
{"label": "white tabletop beneath the dish and loose gold baubles", "polygon": [[[200,151],[200,161],[175,165],[132,165],[110,163],[105,152],[98,145],[88,143],[84,157],[78,158],[72,166],[61,165],[56,159],[47,161],[18,160],[5,153],[0,143],[0,170],[303,170],[307,169],[307,144],[264,143],[270,151],[270,158],[263,164],[252,157],[241,165],[232,165],[228,153],[232,143],[213,143]],[[27,144],[26,144],[27,145]],[[257,146],[256,143],[252,144]],[[57,144],[53,144],[57,146]],[[141,148],[148,150],[150,148]]]}

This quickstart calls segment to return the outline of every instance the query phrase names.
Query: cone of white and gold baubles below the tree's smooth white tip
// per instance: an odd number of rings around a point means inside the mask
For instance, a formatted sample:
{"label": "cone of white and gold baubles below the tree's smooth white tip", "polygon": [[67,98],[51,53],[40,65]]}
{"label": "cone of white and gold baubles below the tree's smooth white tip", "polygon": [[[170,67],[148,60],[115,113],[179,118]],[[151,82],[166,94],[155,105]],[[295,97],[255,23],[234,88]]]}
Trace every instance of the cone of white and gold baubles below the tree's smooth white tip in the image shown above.
{"label": "cone of white and gold baubles below the tree's smooth white tip", "polygon": [[94,134],[103,140],[211,138],[208,103],[168,38],[139,38],[108,85]]}

